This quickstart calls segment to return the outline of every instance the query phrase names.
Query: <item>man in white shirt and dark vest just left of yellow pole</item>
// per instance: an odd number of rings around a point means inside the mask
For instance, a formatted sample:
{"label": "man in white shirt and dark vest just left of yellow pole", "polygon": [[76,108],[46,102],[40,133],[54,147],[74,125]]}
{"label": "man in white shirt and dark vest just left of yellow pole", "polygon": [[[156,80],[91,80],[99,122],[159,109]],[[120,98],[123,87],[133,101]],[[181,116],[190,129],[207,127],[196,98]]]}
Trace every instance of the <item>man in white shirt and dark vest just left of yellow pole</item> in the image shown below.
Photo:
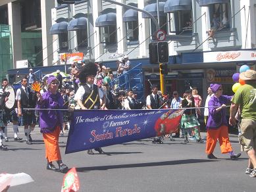
{"label": "man in white shirt and dark vest just left of yellow pole", "polygon": [[[151,94],[147,95],[147,108],[148,109],[158,109],[161,107],[160,105],[160,99],[159,95],[157,94],[158,88],[157,85],[152,85],[151,86]],[[161,137],[154,137],[152,143],[159,143],[162,144],[163,141],[161,141]]]}

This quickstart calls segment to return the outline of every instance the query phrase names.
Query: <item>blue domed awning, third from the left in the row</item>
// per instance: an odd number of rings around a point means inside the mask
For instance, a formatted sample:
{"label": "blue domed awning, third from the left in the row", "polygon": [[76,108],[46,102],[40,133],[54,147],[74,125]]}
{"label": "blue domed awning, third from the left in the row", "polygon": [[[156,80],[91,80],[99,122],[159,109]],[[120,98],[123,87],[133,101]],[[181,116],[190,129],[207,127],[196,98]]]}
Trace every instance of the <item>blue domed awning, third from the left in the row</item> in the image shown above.
{"label": "blue domed awning, third from the left in the row", "polygon": [[116,25],[116,14],[109,12],[107,14],[101,14],[95,22],[96,27],[113,26]]}

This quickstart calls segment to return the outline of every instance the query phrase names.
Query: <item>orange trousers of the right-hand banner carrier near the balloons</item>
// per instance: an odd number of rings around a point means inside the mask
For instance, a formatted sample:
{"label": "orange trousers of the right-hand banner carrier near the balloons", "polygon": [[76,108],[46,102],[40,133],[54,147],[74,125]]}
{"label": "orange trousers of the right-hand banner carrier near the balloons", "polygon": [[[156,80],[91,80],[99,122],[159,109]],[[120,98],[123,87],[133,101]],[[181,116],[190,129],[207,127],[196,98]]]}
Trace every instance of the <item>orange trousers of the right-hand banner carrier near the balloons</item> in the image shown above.
{"label": "orange trousers of the right-hand banner carrier near the balloons", "polygon": [[228,126],[220,126],[217,130],[207,130],[206,150],[207,155],[213,153],[215,146],[220,143],[221,153],[228,153],[232,151],[232,147],[228,137]]}

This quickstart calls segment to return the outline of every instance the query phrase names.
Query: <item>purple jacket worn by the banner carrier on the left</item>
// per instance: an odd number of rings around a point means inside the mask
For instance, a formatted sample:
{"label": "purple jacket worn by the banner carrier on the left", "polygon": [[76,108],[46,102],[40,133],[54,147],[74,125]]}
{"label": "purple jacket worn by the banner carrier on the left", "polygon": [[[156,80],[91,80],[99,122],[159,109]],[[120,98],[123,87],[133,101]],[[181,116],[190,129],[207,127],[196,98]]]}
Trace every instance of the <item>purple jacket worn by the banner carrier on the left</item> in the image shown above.
{"label": "purple jacket worn by the banner carrier on the left", "polygon": [[[63,108],[64,100],[61,93],[53,95],[46,91],[42,95],[43,101],[38,101],[36,108]],[[61,110],[39,111],[39,124],[41,133],[54,132],[56,126],[63,125],[63,112]]]}

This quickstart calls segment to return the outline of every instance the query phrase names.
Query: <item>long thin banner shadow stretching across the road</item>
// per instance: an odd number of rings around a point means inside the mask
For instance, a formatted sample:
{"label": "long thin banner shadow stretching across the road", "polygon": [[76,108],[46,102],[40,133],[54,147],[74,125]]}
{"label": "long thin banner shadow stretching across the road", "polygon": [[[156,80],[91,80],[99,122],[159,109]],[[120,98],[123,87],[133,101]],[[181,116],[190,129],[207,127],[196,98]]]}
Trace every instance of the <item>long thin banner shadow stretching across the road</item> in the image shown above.
{"label": "long thin banner shadow stretching across the road", "polygon": [[111,169],[118,169],[118,168],[166,166],[166,165],[192,164],[192,163],[215,162],[215,161],[217,160],[207,160],[207,159],[168,160],[168,161],[162,161],[162,162],[145,162],[145,163],[136,163],[136,164],[116,164],[116,165],[109,165],[109,166],[81,167],[81,168],[76,168],[76,171],[88,172],[93,170],[111,170]]}

